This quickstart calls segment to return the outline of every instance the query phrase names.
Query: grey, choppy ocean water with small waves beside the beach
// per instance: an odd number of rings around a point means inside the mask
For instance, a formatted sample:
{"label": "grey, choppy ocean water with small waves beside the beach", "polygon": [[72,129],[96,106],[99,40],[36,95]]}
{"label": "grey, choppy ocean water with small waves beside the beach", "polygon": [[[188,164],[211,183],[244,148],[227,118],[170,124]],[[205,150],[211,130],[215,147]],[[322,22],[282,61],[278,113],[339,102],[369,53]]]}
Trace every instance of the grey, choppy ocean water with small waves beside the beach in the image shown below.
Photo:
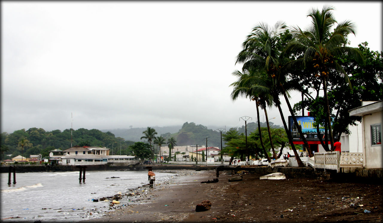
{"label": "grey, choppy ocean water with small waves beside the beach", "polygon": [[[156,184],[175,175],[155,174]],[[84,220],[84,216],[97,218],[102,215],[97,212],[109,209],[109,202],[93,202],[92,199],[113,196],[118,192],[124,195],[129,189],[149,182],[146,171],[86,171],[85,178],[85,184],[79,184],[79,171],[16,173],[16,184],[13,184],[12,174],[11,185],[8,186],[8,173],[2,173],[1,221],[75,222]],[[125,197],[119,201],[119,205],[127,203]],[[88,212],[93,212],[93,215],[85,215]]]}

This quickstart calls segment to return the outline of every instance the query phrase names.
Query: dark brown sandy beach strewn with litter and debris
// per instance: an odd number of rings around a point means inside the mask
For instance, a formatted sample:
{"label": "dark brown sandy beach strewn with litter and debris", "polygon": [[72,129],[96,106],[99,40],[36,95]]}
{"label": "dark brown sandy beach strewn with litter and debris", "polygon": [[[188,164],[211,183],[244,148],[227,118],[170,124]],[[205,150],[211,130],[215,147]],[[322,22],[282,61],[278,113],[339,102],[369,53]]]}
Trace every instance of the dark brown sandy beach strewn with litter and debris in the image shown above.
{"label": "dark brown sandy beach strewn with litter and debris", "polygon": [[[378,183],[294,178],[260,180],[259,174],[178,170],[170,182],[145,185],[135,202],[115,205],[92,222],[381,222],[382,186]],[[144,173],[144,172],[143,172]],[[146,192],[147,190],[147,192]],[[137,195],[137,194],[135,194]],[[133,200],[134,196],[123,199]],[[196,212],[203,200],[211,209]],[[364,210],[370,213],[365,213]]]}

